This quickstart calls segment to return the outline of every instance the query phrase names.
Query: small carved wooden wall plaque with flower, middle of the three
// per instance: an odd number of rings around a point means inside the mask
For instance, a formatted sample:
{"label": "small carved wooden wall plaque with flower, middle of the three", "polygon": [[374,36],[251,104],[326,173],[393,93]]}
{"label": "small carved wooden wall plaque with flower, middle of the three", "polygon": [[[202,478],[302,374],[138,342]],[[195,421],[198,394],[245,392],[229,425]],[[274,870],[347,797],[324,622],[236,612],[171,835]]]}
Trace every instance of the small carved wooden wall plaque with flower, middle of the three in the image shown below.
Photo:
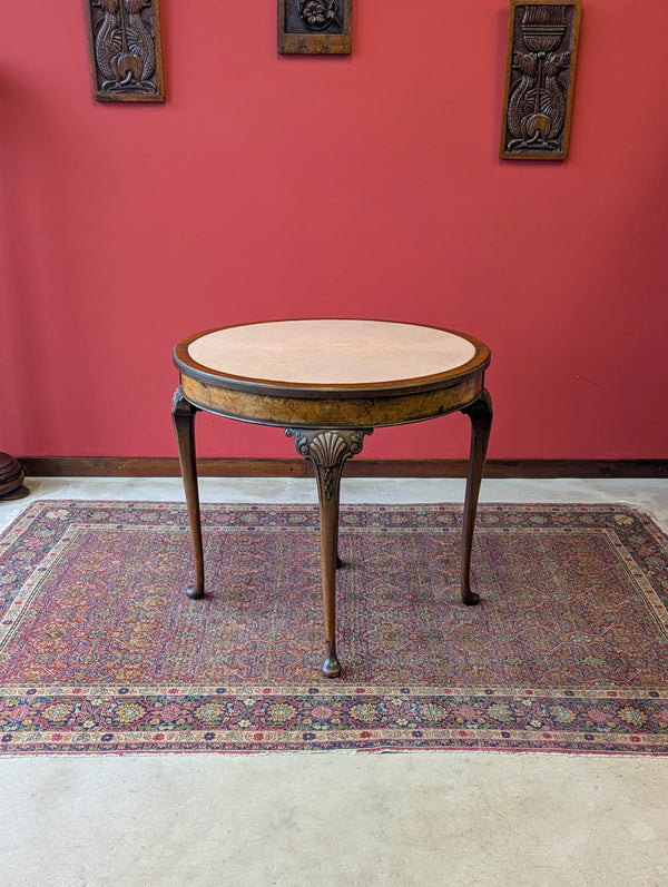
{"label": "small carved wooden wall plaque with flower, middle of the three", "polygon": [[353,0],[278,0],[278,52],[352,51]]}

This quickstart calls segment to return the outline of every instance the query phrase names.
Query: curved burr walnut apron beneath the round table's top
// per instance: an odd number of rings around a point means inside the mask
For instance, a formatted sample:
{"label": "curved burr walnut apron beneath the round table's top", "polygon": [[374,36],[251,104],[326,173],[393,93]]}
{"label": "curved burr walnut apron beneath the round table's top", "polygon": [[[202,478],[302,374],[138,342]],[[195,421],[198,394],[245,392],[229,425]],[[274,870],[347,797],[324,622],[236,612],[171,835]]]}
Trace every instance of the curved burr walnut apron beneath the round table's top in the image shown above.
{"label": "curved burr walnut apron beneath the round table's top", "polygon": [[484,372],[448,387],[371,397],[289,397],[207,385],[181,373],[184,396],[200,410],[257,425],[360,428],[405,425],[462,410],[480,395]]}

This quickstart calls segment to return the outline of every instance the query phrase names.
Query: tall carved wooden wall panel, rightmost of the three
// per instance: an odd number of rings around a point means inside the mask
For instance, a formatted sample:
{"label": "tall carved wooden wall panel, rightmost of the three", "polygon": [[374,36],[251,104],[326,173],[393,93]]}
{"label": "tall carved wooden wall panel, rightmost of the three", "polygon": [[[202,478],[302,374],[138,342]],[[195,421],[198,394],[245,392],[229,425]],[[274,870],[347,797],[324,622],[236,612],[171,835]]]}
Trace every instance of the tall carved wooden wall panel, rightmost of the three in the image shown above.
{"label": "tall carved wooden wall panel, rightmost of the three", "polygon": [[580,16],[581,0],[511,0],[502,159],[566,159]]}

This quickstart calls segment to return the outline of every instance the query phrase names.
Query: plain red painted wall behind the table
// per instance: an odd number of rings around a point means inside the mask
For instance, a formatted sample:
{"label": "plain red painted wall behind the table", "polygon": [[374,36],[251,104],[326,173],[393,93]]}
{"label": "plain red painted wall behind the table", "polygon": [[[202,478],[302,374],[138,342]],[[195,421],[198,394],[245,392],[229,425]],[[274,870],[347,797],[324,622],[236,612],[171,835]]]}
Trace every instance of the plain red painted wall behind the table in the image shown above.
{"label": "plain red painted wall behind the table", "polygon": [[[501,0],[356,0],[350,58],[278,57],[275,6],[161,0],[165,106],[92,100],[81,3],[3,9],[0,449],[174,455],[179,338],[350,316],[484,339],[491,456],[667,457],[668,4],[586,0],[566,164],[497,159]],[[202,455],[294,455],[200,418]]]}

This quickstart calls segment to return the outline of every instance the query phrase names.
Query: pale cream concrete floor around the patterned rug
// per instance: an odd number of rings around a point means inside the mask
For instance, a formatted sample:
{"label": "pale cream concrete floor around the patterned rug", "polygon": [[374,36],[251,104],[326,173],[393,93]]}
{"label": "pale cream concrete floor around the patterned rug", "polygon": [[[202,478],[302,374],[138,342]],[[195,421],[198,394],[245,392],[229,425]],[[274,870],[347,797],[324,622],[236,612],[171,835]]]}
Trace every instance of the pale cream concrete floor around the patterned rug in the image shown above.
{"label": "pale cream concrete floor around the patterned rug", "polygon": [[[37,496],[181,500],[177,480],[51,479]],[[310,480],[204,501],[314,502]],[[628,502],[667,481],[485,481],[485,501]],[[344,502],[459,502],[463,482],[344,481]],[[668,884],[668,759],[489,752],[0,759],[0,887]]]}

